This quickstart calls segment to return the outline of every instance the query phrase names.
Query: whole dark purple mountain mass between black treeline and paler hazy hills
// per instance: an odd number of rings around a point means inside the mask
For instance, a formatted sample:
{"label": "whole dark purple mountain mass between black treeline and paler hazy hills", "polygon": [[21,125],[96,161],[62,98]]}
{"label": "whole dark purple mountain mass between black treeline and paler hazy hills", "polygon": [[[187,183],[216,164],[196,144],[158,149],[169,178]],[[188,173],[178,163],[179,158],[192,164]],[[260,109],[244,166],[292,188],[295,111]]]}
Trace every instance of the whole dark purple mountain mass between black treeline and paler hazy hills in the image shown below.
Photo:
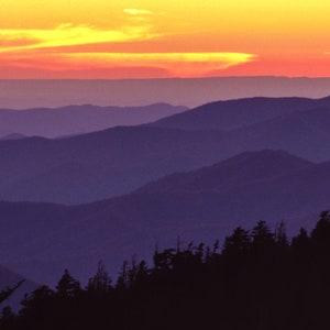
{"label": "whole dark purple mountain mass between black treeline and paler hazy hills", "polygon": [[330,98],[219,101],[135,127],[0,141],[0,264],[54,285],[329,208]]}

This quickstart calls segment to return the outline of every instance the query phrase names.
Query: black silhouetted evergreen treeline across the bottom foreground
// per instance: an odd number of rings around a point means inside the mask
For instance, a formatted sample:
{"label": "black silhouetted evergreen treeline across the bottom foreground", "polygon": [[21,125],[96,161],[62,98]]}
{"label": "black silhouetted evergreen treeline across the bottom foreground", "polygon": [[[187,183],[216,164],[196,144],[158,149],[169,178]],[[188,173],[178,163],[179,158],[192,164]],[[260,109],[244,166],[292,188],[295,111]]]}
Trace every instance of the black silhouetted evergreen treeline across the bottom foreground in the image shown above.
{"label": "black silhouetted evergreen treeline across the bottom foreground", "polygon": [[102,263],[82,288],[65,271],[0,329],[286,330],[330,329],[330,215],[288,240],[284,223],[237,228],[212,246],[155,251],[154,263],[124,263],[112,284]]}

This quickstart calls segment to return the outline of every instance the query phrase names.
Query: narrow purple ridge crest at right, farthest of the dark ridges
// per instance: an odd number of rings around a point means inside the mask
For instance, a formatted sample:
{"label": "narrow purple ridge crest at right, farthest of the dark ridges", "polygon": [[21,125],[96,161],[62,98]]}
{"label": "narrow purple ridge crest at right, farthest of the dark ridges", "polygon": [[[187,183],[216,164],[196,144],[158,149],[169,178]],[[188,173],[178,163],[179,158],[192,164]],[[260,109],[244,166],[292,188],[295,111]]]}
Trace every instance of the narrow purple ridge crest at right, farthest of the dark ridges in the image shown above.
{"label": "narrow purple ridge crest at right, farthest of the dark ridges", "polygon": [[191,111],[161,119],[152,125],[183,130],[230,131],[320,107],[330,107],[330,97],[322,99],[255,97],[207,103]]}

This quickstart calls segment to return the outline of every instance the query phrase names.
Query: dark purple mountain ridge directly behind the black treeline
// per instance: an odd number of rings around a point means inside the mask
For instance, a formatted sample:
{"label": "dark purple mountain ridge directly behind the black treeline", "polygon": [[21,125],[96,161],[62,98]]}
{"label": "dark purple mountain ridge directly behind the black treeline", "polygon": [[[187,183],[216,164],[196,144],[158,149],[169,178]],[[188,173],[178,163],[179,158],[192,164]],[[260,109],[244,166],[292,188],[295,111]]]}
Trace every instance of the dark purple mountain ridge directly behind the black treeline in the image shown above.
{"label": "dark purple mountain ridge directly behind the black treeline", "polygon": [[113,274],[178,237],[213,242],[261,219],[310,228],[329,208],[329,183],[330,163],[262,151],[88,205],[1,202],[0,262],[38,282],[54,283],[65,267],[86,280],[99,258]]}

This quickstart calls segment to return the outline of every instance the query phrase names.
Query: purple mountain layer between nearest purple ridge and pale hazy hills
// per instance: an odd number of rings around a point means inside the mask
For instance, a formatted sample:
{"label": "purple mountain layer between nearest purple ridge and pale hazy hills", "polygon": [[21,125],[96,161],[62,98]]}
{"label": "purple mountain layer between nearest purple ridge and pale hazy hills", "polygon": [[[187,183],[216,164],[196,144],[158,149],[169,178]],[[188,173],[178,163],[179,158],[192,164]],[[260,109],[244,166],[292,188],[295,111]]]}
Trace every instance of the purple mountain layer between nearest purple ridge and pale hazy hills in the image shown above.
{"label": "purple mountain layer between nearest purple ridge and pale hazy hills", "polygon": [[[168,127],[167,127],[168,125]],[[0,199],[81,204],[245,151],[330,160],[330,98],[220,101],[153,124],[0,141]]]}

